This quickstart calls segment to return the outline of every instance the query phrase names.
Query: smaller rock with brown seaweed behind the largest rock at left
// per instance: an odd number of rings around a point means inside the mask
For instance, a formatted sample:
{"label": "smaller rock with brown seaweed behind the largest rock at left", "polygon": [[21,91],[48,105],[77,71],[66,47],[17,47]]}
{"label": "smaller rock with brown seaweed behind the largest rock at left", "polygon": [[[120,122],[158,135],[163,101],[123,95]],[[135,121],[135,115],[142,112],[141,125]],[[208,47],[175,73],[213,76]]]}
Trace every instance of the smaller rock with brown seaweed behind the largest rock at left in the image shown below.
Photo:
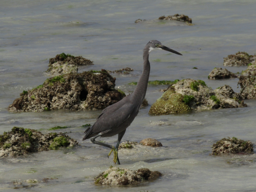
{"label": "smaller rock with brown seaweed behind the largest rock at left", "polygon": [[63,75],[66,73],[77,73],[77,66],[93,65],[93,61],[82,56],[75,57],[70,54],[61,53],[55,58],[49,59],[48,70],[52,75]]}

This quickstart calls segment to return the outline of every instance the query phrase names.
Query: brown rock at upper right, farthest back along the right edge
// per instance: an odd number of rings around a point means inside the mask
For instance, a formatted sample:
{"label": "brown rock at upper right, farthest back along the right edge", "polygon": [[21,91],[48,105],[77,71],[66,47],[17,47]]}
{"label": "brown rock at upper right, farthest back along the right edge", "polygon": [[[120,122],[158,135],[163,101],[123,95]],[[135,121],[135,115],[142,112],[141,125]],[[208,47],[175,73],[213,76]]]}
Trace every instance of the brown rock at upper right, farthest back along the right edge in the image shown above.
{"label": "brown rock at upper right, farthest back along the right edge", "polygon": [[234,55],[228,55],[224,58],[224,66],[244,66],[256,59],[256,56],[249,55],[246,52],[237,52]]}

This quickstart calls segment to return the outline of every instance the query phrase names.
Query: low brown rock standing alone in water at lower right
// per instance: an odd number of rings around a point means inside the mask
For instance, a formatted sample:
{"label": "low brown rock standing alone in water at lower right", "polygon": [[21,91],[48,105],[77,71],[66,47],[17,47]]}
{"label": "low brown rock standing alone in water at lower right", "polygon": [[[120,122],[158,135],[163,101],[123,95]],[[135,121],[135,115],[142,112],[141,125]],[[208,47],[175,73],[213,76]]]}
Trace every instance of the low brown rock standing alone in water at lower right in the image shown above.
{"label": "low brown rock standing alone in water at lower right", "polygon": [[217,141],[212,146],[212,153],[210,155],[240,153],[240,152],[253,152],[253,144],[251,141],[244,141],[235,137],[223,138]]}

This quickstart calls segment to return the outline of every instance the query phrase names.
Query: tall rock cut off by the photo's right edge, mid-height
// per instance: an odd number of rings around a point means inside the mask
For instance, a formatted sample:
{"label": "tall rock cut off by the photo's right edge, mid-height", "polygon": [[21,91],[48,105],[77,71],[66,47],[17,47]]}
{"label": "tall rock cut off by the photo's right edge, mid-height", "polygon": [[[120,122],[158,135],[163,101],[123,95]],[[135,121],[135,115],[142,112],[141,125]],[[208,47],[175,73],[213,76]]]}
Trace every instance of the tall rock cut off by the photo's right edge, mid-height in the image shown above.
{"label": "tall rock cut off by the photo's right edge, mid-height", "polygon": [[243,99],[256,99],[256,61],[249,63],[248,68],[242,71],[238,84]]}

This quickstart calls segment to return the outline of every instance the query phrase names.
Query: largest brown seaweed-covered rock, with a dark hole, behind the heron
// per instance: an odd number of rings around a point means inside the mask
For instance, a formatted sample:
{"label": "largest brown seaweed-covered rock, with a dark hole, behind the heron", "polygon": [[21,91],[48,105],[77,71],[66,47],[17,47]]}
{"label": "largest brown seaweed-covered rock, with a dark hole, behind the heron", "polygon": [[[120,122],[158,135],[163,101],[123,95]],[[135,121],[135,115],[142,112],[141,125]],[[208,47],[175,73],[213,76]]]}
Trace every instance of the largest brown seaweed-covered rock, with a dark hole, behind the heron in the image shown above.
{"label": "largest brown seaweed-covered rock, with a dark hole, behind the heron", "polygon": [[104,109],[124,96],[115,88],[109,73],[85,71],[47,79],[32,90],[23,91],[9,105],[11,111]]}

